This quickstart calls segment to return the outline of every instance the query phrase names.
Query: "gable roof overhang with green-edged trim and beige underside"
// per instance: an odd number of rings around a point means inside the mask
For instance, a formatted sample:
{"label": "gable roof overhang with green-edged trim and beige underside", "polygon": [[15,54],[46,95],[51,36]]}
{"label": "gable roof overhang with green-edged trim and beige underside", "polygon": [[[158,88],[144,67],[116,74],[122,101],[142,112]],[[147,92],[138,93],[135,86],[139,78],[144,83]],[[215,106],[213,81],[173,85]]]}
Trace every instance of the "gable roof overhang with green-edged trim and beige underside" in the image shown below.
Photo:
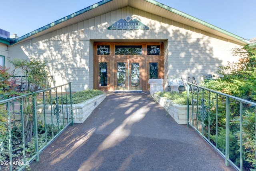
{"label": "gable roof overhang with green-edged trim and beige underside", "polygon": [[38,36],[42,36],[44,34],[50,33],[52,31],[64,28],[66,26],[70,26],[72,24],[76,24],[82,22],[84,20],[88,20],[90,18],[94,18],[96,16],[100,16],[102,14],[106,14],[108,12],[130,6],[136,8],[138,10],[150,12],[152,14],[168,18],[170,20],[186,24],[188,26],[198,28],[199,30],[204,30],[205,32],[214,34],[216,36],[220,36],[226,38],[228,40],[232,40],[234,42],[238,42],[240,44],[249,44],[249,42],[240,37],[232,34],[226,30],[213,26],[207,22],[204,22],[198,18],[190,16],[184,12],[166,6],[160,2],[155,0],[102,0],[92,6],[84,8],[78,12],[70,14],[60,20],[52,22],[44,27],[41,27],[33,32],[30,32],[20,38],[16,39],[15,42],[23,42],[28,39],[32,39]]}

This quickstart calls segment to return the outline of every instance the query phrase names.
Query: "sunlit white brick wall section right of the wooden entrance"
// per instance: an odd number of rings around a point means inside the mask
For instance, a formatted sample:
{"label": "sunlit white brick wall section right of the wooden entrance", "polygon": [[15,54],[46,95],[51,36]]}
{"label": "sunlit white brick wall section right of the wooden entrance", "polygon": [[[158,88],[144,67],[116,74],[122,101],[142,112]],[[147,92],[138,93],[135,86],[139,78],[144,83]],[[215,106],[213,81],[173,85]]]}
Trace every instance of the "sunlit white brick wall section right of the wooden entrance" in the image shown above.
{"label": "sunlit white brick wall section right of the wooden entrance", "polygon": [[[215,42],[215,44],[213,44]],[[231,48],[236,45],[221,40],[168,40],[168,76],[194,76],[198,83],[207,74],[214,74],[227,60],[235,61]]]}

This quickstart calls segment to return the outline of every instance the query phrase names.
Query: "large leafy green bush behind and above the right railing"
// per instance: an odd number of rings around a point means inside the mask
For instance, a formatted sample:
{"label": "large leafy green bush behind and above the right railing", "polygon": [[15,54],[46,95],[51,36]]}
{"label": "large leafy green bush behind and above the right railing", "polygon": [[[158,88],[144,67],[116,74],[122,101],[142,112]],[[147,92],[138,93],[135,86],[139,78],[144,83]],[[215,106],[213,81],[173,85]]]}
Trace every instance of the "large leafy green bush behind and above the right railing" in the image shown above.
{"label": "large leafy green bush behind and above the right railing", "polygon": [[[217,73],[221,74],[218,80],[210,80],[204,83],[204,87],[214,89],[222,93],[240,97],[249,101],[256,102],[256,51],[250,49],[248,46],[243,48],[234,48],[234,56],[240,56],[238,62],[229,62],[226,66],[221,66]],[[224,101],[224,99],[222,100]],[[220,103],[221,104],[221,103]],[[242,133],[242,146],[243,146],[243,166],[244,169],[254,170],[256,166],[255,157],[255,109],[248,107],[246,104],[243,105],[243,133]],[[218,111],[222,115],[218,115],[218,118],[225,119],[223,111],[225,106],[219,105]],[[219,112],[218,112],[219,113]],[[240,146],[240,104],[238,101],[230,101],[230,138],[232,142],[236,142],[236,146]],[[225,127],[224,122],[218,123],[219,127]],[[222,134],[220,131],[219,134]],[[224,138],[218,135],[220,141],[224,141]],[[214,141],[214,139],[212,139]],[[230,140],[231,141],[231,140]],[[220,150],[224,150],[225,147],[220,145]],[[235,146],[233,143],[231,146]],[[238,149],[230,148],[232,152],[230,158],[233,159],[234,163],[239,164],[239,153]]]}

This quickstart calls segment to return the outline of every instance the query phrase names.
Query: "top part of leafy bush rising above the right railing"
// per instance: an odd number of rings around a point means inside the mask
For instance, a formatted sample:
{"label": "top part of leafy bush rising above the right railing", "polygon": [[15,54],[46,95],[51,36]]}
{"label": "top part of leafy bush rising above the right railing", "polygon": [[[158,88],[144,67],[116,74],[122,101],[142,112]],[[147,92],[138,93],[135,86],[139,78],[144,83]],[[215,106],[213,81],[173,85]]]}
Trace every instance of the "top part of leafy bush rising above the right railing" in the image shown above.
{"label": "top part of leafy bush rising above the right railing", "polygon": [[222,75],[218,80],[205,82],[209,89],[221,91],[249,101],[256,101],[256,51],[244,46],[234,48],[234,56],[240,56],[238,62],[228,62],[216,71]]}

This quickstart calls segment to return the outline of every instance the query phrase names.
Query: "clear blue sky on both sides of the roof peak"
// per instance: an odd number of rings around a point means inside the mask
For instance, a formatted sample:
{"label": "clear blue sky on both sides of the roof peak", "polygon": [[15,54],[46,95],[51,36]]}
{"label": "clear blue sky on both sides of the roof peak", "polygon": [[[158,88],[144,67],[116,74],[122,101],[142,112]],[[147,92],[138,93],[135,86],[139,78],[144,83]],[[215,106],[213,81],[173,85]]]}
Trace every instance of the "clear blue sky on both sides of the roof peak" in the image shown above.
{"label": "clear blue sky on both sides of the roof peak", "polygon": [[[244,39],[256,38],[256,0],[156,0]],[[21,37],[100,0],[3,0],[0,28]]]}

